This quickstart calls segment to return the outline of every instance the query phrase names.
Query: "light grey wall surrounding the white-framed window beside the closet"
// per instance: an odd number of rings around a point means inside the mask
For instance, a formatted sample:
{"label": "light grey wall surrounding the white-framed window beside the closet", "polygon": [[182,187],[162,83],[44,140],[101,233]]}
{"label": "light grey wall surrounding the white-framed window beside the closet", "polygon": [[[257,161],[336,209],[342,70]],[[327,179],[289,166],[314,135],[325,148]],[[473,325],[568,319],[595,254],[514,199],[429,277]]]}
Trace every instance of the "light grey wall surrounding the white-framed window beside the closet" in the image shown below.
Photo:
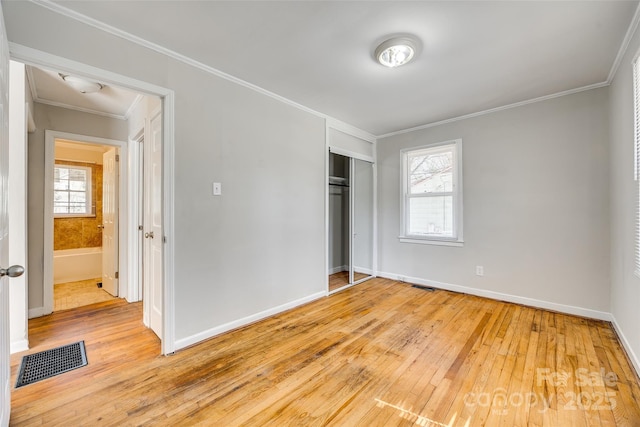
{"label": "light grey wall surrounding the white-framed window beside the closet", "polygon": [[[591,90],[378,140],[381,274],[607,318],[607,95]],[[400,243],[400,150],[457,138],[464,247]]]}

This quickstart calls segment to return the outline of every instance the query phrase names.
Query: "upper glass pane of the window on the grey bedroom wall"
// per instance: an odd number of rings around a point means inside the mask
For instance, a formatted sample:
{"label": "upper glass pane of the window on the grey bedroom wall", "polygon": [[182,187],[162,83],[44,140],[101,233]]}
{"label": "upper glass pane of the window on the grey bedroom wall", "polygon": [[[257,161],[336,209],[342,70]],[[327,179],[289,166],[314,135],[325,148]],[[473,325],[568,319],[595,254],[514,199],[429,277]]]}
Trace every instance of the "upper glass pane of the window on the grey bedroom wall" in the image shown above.
{"label": "upper glass pane of the window on the grey bedroom wall", "polygon": [[409,155],[411,194],[453,191],[453,151]]}

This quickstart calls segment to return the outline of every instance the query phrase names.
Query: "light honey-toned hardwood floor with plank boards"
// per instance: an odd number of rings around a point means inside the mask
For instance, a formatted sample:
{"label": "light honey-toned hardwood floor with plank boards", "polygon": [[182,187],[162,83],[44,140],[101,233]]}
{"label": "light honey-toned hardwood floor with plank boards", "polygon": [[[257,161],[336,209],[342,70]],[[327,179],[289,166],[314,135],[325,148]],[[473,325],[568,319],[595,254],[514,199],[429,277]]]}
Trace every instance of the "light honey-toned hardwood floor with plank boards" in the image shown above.
{"label": "light honey-toned hardwood floor with plank boards", "polygon": [[31,352],[84,339],[89,365],[14,390],[11,425],[640,426],[602,321],[373,279],[163,357],[141,316],[31,320]]}

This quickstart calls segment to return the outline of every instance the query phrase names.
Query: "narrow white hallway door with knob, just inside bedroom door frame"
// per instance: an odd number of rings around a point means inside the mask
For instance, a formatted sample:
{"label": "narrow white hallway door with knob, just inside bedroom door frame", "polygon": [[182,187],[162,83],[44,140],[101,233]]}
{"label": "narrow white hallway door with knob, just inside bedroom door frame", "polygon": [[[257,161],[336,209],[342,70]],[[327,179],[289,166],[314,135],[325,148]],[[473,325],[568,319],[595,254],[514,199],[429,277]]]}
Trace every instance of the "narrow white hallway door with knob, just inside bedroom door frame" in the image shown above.
{"label": "narrow white hallway door with knob, just inside bedroom door frame", "polygon": [[162,116],[151,120],[144,147],[144,304],[149,327],[162,338]]}

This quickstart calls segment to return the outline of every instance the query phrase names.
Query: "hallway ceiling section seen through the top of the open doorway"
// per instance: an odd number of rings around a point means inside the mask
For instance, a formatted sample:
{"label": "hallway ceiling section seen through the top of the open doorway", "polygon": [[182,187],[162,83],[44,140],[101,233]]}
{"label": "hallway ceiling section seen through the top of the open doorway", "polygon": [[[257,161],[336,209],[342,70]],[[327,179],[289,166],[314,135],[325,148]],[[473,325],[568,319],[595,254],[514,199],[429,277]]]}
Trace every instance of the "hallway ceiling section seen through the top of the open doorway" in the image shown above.
{"label": "hallway ceiling section seen through the top of the open doorway", "polygon": [[105,85],[95,93],[80,93],[65,83],[55,71],[27,66],[29,88],[34,101],[86,113],[127,119],[142,95]]}

